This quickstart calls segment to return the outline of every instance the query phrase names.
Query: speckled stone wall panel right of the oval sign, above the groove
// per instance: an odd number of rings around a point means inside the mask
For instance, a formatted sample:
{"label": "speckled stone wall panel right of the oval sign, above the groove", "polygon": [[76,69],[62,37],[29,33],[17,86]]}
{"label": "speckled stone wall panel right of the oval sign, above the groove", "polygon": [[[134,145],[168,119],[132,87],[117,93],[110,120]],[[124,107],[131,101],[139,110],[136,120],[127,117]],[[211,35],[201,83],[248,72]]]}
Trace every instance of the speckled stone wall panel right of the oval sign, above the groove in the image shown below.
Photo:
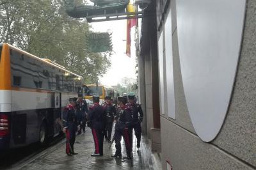
{"label": "speckled stone wall panel right of the oval sign, above the groove", "polygon": [[248,0],[234,93],[220,134],[212,141],[256,169],[256,1]]}

